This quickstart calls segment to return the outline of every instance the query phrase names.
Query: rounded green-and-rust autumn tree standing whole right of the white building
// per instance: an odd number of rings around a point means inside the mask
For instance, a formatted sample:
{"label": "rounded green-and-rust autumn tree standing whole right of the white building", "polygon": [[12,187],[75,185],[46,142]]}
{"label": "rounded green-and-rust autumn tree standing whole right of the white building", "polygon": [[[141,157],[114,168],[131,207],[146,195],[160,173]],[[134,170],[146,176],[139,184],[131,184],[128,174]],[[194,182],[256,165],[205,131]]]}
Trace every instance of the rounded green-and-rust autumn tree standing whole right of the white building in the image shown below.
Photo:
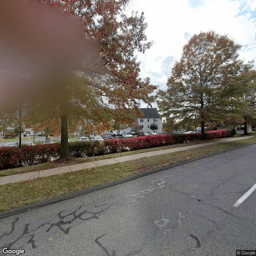
{"label": "rounded green-and-rust autumn tree standing whole right of the white building", "polygon": [[231,111],[236,94],[236,79],[242,61],[241,46],[227,36],[201,32],[183,47],[180,61],[174,64],[167,90],[159,90],[158,106],[164,116],[201,123],[220,121]]}

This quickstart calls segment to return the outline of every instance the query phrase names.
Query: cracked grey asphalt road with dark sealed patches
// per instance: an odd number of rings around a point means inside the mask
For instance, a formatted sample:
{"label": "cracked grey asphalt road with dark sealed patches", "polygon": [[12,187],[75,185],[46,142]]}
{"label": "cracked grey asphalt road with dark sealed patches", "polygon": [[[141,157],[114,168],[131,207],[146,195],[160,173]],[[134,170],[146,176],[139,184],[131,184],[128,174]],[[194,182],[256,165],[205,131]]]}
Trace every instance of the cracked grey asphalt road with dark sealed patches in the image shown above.
{"label": "cracked grey asphalt road with dark sealed patches", "polygon": [[0,248],[35,256],[255,250],[256,191],[233,206],[256,183],[255,155],[256,144],[1,219]]}

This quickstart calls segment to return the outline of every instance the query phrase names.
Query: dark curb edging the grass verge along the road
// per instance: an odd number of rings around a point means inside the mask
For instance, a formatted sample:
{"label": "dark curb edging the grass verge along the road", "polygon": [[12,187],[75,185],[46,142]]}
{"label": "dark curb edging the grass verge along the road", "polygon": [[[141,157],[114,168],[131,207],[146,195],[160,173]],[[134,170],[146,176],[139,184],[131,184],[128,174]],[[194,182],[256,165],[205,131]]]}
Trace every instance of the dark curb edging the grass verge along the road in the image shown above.
{"label": "dark curb edging the grass verge along the road", "polygon": [[197,160],[200,160],[200,159],[203,159],[203,158],[207,158],[207,157],[210,157],[210,156],[215,156],[215,155],[218,155],[218,154],[222,154],[222,153],[225,153],[225,152],[228,152],[228,151],[236,150],[238,148],[244,148],[246,146],[251,146],[251,145],[254,145],[254,144],[256,144],[256,143],[250,143],[250,144],[238,146],[236,148],[230,148],[230,149],[222,150],[222,151],[215,152],[215,153],[212,153],[212,154],[208,154],[208,155],[205,155],[205,156],[200,156],[198,158],[192,158],[192,159],[189,159],[189,160],[186,160],[186,161],[183,161],[183,162],[178,162],[176,164],[171,164],[171,165],[168,165],[168,166],[164,166],[164,167],[158,168],[156,170],[142,172],[142,173],[139,173],[139,174],[135,174],[133,176],[122,178],[120,180],[115,180],[115,181],[108,182],[108,183],[105,183],[105,184],[101,184],[101,185],[98,185],[98,186],[94,186],[94,187],[91,187],[91,188],[86,188],[84,190],[78,190],[78,191],[71,192],[69,194],[65,194],[65,195],[62,195],[62,196],[46,199],[46,200],[43,200],[41,202],[36,202],[36,203],[33,203],[33,204],[27,204],[25,206],[20,206],[20,207],[11,209],[11,210],[6,210],[6,211],[3,211],[3,212],[0,212],[0,219],[6,218],[6,217],[9,217],[9,216],[13,216],[13,215],[16,215],[16,214],[19,214],[19,213],[22,213],[22,212],[27,212],[27,211],[30,211],[30,210],[34,210],[36,208],[47,206],[49,204],[54,204],[54,203],[57,203],[57,202],[68,200],[70,198],[74,198],[74,197],[81,196],[81,195],[84,195],[84,194],[88,194],[90,192],[101,190],[103,188],[109,188],[109,187],[112,187],[112,186],[115,186],[115,185],[118,185],[118,184],[121,184],[121,183],[124,183],[124,182],[128,182],[130,180],[135,180],[137,178],[140,178],[140,177],[143,177],[143,176],[146,176],[146,175],[149,175],[149,174],[153,174],[153,173],[156,173],[156,172],[161,172],[161,171],[164,171],[164,170],[176,167],[176,166],[180,166],[180,165],[183,165],[183,164],[188,164],[190,162],[194,162],[194,161],[197,161]]}

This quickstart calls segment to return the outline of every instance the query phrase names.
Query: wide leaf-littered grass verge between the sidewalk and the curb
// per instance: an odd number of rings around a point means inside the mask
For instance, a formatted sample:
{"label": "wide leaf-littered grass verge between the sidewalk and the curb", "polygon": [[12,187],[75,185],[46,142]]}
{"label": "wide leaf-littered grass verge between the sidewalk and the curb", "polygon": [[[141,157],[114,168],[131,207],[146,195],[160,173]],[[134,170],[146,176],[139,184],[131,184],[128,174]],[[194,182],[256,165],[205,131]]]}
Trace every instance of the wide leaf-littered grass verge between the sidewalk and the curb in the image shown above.
{"label": "wide leaf-littered grass verge between the sidewalk and the curb", "polygon": [[255,137],[2,185],[0,186],[0,211],[254,142],[256,142]]}

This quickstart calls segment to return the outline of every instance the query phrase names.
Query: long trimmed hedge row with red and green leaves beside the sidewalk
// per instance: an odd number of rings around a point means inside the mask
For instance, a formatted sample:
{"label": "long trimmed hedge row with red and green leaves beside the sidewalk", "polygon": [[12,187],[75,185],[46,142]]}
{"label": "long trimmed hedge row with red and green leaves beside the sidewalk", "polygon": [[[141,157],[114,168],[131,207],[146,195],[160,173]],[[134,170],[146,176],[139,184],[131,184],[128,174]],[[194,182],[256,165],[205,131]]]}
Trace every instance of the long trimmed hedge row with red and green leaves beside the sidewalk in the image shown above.
{"label": "long trimmed hedge row with red and green leaves beside the sidewalk", "polygon": [[[225,138],[234,135],[228,129],[208,131],[205,133],[207,140]],[[139,136],[129,139],[112,139],[100,142],[70,142],[69,153],[73,157],[99,156],[124,152],[127,150],[138,150],[143,148],[154,148],[185,142],[201,140],[200,133],[190,134],[159,134],[151,136]],[[26,166],[34,164],[34,161],[49,162],[53,158],[60,157],[60,143],[36,146],[0,147],[0,170],[15,168],[20,163]]]}

